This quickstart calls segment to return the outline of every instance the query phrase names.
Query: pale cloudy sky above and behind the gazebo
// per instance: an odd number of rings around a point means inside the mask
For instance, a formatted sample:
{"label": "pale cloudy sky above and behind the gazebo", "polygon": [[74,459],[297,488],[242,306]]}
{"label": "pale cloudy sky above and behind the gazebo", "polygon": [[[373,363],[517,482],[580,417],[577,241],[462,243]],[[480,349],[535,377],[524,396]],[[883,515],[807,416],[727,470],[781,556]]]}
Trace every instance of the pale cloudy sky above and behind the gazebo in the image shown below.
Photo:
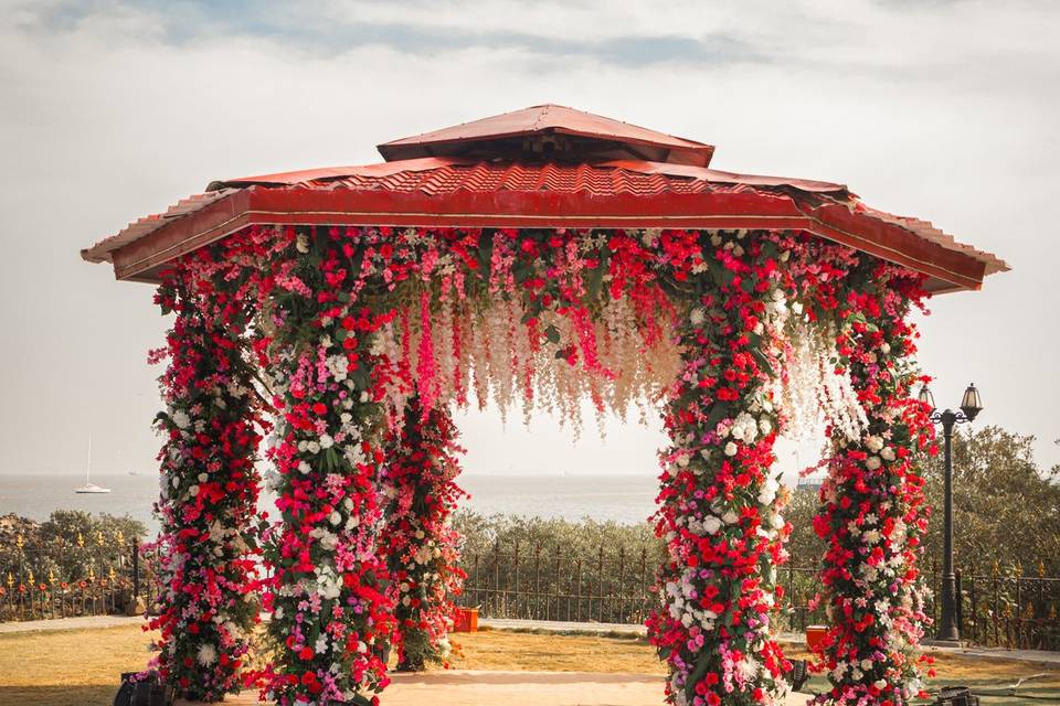
{"label": "pale cloudy sky above and behind the gazebo", "polygon": [[[0,0],[0,483],[153,467],[147,285],[78,250],[213,180],[381,161],[374,145],[559,103],[717,146],[712,167],[850,185],[1013,271],[939,297],[941,406],[1060,462],[1060,3]],[[657,422],[601,439],[457,416],[465,468],[655,475]],[[802,460],[812,453],[805,445]],[[795,446],[782,446],[791,471]],[[0,509],[2,511],[2,509]]]}

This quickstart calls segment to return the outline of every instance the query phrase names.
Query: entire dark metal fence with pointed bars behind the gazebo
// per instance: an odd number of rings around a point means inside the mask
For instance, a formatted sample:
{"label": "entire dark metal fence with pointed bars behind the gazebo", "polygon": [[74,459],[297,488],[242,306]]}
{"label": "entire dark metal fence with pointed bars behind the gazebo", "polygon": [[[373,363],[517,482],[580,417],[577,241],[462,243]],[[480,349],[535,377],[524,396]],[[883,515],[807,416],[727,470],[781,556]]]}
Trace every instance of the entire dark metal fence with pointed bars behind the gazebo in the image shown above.
{"label": "entire dark metal fence with pointed bars behind the gazebo", "polygon": [[[0,622],[129,612],[157,601],[156,549],[136,539],[77,536],[62,550],[0,543]],[[558,547],[515,544],[469,553],[457,603],[478,607],[487,618],[636,624],[656,606],[651,592],[661,557],[646,548],[600,546],[571,554]],[[926,567],[929,613],[937,619],[942,577]],[[1014,566],[958,571],[957,621],[964,640],[990,646],[1060,650],[1060,577],[1045,567],[1032,576]],[[780,568],[784,588],[777,628],[802,632],[826,622],[814,606],[820,590],[817,568],[792,561]],[[139,601],[138,599],[142,599]]]}

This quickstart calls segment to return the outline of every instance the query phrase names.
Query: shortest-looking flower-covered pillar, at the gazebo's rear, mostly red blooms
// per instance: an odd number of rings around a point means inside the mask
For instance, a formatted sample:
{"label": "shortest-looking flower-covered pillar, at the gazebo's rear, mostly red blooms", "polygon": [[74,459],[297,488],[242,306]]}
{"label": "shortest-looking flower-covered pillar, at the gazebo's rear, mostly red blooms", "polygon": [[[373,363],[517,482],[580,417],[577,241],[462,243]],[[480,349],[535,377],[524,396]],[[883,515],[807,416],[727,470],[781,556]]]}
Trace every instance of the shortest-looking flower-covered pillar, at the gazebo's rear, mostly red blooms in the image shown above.
{"label": "shortest-looking flower-covered pillar, at the gazebo's rear, mostly red blooms", "polygon": [[398,668],[421,671],[449,653],[448,622],[466,577],[457,566],[460,536],[451,525],[464,494],[457,430],[445,407],[424,410],[418,397],[388,438],[383,493],[386,530],[381,547],[389,559],[396,619]]}

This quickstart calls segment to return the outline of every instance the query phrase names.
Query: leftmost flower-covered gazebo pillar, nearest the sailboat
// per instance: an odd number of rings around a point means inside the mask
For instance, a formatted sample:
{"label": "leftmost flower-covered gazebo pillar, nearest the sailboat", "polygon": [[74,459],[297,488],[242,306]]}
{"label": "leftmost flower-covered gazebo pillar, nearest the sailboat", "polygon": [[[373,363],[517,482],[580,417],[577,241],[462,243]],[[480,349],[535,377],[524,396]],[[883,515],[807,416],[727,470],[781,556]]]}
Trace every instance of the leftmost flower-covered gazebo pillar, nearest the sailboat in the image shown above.
{"label": "leftmost flower-covered gazebo pillar, nearest the sailboat", "polygon": [[262,422],[243,344],[253,302],[216,291],[183,265],[166,274],[156,301],[177,315],[167,346],[152,354],[169,359],[160,378],[166,409],[156,419],[166,443],[152,666],[188,698],[220,700],[240,688],[258,610],[252,555]]}

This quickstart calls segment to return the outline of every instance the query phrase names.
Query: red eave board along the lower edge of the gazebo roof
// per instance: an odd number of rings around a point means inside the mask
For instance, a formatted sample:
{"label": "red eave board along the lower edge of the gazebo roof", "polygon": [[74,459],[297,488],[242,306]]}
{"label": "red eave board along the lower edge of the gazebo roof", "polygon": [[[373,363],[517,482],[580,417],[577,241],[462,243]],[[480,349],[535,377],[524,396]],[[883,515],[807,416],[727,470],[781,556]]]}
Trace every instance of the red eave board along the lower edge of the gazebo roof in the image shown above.
{"label": "red eave board along the lower edge of the gazebo roof", "polygon": [[[576,214],[576,215],[572,215]],[[579,193],[423,193],[250,186],[172,218],[131,243],[104,240],[82,250],[109,261],[120,280],[156,281],[168,261],[250,225],[395,225],[464,227],[698,227],[799,229],[925,274],[935,291],[977,290],[1007,269],[925,240],[894,224],[827,204],[799,206],[778,193],[666,194],[654,199]]]}

